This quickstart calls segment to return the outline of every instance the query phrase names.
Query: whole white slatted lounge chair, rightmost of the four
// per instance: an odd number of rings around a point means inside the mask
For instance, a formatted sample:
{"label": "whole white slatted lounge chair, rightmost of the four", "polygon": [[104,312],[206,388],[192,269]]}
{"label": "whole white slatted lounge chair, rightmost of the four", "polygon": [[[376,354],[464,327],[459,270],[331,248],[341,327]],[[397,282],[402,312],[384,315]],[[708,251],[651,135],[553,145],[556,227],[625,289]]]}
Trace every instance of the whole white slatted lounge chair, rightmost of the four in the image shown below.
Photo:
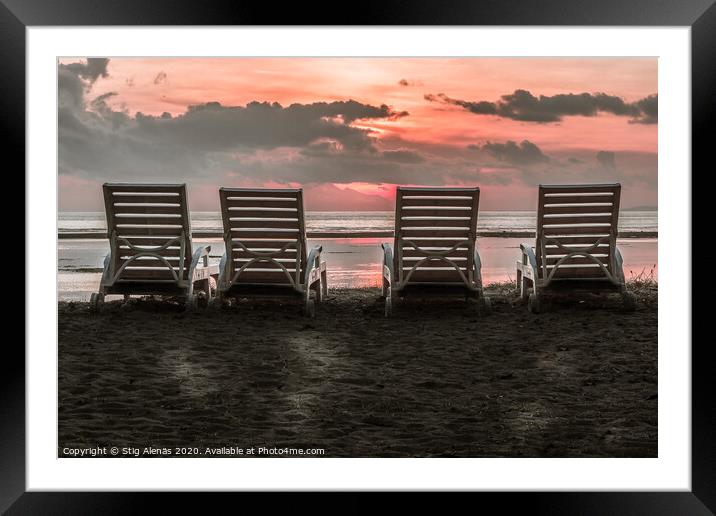
{"label": "whole white slatted lounge chair, rightmost of the four", "polygon": [[619,184],[540,185],[535,249],[522,244],[517,262],[520,296],[530,311],[543,295],[616,291],[633,309],[617,248]]}

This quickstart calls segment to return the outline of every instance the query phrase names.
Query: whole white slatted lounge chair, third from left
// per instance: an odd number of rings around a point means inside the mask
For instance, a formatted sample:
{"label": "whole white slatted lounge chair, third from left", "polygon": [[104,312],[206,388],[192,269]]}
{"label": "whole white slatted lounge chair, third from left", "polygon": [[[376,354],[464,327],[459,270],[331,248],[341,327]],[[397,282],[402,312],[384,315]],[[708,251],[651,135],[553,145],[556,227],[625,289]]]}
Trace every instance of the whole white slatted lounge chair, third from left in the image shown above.
{"label": "whole white slatted lounge chair, third from left", "polygon": [[479,188],[398,187],[394,246],[383,246],[385,315],[409,290],[476,298],[489,310],[475,245]]}

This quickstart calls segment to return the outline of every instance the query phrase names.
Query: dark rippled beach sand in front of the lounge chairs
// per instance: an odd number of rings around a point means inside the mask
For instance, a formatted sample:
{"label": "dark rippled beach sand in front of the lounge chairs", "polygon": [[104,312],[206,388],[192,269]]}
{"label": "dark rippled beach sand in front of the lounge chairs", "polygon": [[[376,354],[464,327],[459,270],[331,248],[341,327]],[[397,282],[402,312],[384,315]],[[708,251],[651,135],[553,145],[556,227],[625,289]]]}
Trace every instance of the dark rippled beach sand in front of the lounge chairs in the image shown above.
{"label": "dark rippled beach sand in front of the lounge chairs", "polygon": [[656,457],[657,305],[336,290],[184,313],[59,304],[59,447],[323,448],[327,457]]}

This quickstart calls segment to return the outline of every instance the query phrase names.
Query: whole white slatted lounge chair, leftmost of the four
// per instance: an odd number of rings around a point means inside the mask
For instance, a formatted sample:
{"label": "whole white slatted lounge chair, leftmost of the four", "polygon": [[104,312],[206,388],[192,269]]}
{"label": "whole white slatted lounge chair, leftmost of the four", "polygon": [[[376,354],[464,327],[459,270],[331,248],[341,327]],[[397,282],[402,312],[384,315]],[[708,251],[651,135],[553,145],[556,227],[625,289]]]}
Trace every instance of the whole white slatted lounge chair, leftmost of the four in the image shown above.
{"label": "whole white slatted lounge chair, leftmost of the four", "polygon": [[186,185],[103,185],[110,251],[104,259],[99,291],[90,306],[99,310],[107,294],[183,297],[195,308],[194,288],[211,297],[210,246],[192,252]]}

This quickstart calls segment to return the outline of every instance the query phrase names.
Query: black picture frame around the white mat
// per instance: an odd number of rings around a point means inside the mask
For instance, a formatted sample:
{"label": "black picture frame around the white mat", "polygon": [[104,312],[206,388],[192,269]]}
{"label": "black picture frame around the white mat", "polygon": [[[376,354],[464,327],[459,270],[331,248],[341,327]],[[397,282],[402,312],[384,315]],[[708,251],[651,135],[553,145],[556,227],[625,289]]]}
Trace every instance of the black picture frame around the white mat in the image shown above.
{"label": "black picture frame around the white mat", "polygon": [[[29,26],[82,25],[689,26],[692,37],[692,170],[706,170],[707,166],[708,170],[714,169],[710,156],[713,130],[709,131],[716,104],[714,0],[453,0],[444,3],[381,0],[362,2],[354,7],[321,2],[286,3],[278,7],[242,0],[201,4],[169,0],[112,3],[0,0],[0,63],[4,70],[0,79],[0,135],[6,144],[6,157],[14,158],[10,163],[18,169],[24,169],[25,165],[25,30]],[[691,171],[678,173],[691,174]],[[23,184],[19,187],[24,189]],[[30,237],[25,234],[26,239]],[[691,285],[690,277],[688,281]],[[29,292],[25,295],[29,299],[26,308],[29,308],[32,296]],[[716,403],[711,398],[715,392],[714,362],[710,360],[711,345],[706,339],[695,339],[691,349],[690,492],[482,493],[477,496],[500,504],[502,510],[529,507],[530,512],[538,514],[711,514],[716,511]],[[143,508],[147,498],[158,499],[166,510],[169,508],[165,504],[171,503],[187,508],[186,495],[177,496],[176,493],[25,492],[25,351],[20,339],[5,339],[0,364],[0,512],[125,514]],[[206,503],[208,496],[206,493],[199,495],[199,503]],[[370,505],[371,497],[379,495],[369,495],[367,499],[352,496],[351,503],[343,502],[342,511],[360,509],[364,503]],[[277,510],[295,508],[294,502],[283,497],[274,496],[272,504]]]}

